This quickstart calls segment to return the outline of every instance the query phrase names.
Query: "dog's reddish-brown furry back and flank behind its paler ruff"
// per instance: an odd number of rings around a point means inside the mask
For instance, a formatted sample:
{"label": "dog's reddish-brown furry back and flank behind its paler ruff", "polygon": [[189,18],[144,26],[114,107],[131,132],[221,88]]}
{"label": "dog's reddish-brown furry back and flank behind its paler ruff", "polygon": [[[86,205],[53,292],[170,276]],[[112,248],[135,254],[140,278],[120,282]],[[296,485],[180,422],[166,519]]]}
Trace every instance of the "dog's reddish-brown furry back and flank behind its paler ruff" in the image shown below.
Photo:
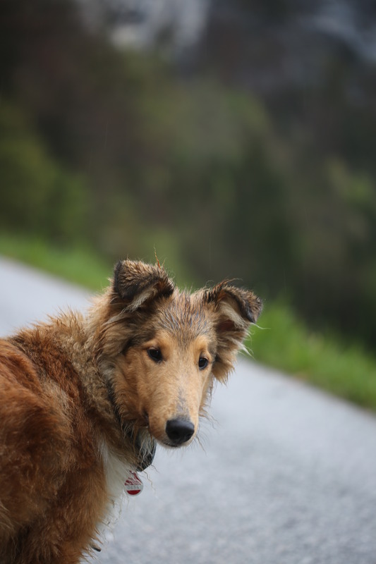
{"label": "dog's reddish-brown furry back and flank behind its paler ruff", "polygon": [[0,390],[0,562],[77,562],[106,503],[78,374],[30,331],[0,340]]}

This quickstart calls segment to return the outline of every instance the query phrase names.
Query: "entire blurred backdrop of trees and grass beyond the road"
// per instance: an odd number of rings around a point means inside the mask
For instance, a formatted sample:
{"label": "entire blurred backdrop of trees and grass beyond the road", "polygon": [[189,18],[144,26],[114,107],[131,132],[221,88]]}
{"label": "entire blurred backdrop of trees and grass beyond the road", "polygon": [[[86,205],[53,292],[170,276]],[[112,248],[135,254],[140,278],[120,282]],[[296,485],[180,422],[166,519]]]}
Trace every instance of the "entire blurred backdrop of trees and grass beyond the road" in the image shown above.
{"label": "entire blurred backdrop of trees and grass beyond the road", "polygon": [[0,0],[0,254],[265,300],[256,360],[376,410],[370,0]]}

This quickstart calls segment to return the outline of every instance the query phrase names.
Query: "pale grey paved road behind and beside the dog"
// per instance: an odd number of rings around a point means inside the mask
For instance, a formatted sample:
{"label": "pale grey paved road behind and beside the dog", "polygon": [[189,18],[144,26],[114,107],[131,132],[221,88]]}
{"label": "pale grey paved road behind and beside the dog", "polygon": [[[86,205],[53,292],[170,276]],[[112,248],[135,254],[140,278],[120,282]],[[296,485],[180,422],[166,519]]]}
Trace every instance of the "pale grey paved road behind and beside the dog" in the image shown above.
{"label": "pale grey paved road behind and beside the dog", "polygon": [[[0,334],[87,294],[0,259]],[[160,449],[97,564],[376,564],[376,418],[241,360],[201,443]]]}

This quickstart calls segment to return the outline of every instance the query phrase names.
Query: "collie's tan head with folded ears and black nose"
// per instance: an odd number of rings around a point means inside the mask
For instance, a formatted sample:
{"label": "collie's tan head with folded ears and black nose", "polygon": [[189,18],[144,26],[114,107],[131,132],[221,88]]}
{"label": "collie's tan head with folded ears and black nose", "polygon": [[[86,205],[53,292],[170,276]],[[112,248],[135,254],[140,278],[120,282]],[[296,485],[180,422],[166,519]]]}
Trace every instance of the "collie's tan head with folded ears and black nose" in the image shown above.
{"label": "collie's tan head with folded ears and black nose", "polygon": [[181,293],[159,266],[116,264],[99,366],[123,424],[164,446],[193,441],[215,379],[224,381],[262,303],[224,281]]}

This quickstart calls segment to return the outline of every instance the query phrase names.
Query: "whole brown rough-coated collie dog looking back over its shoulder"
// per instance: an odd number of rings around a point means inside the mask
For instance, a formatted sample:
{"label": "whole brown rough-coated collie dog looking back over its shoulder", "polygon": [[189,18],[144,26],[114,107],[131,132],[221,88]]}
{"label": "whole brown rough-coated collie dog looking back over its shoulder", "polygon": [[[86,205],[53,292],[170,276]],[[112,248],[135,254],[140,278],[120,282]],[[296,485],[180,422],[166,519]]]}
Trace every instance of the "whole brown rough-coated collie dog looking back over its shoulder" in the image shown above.
{"label": "whole brown rough-coated collie dog looking back over its shoulder", "polygon": [[0,562],[77,564],[157,443],[190,444],[262,302],[224,281],[180,292],[116,264],[85,316],[0,340]]}

